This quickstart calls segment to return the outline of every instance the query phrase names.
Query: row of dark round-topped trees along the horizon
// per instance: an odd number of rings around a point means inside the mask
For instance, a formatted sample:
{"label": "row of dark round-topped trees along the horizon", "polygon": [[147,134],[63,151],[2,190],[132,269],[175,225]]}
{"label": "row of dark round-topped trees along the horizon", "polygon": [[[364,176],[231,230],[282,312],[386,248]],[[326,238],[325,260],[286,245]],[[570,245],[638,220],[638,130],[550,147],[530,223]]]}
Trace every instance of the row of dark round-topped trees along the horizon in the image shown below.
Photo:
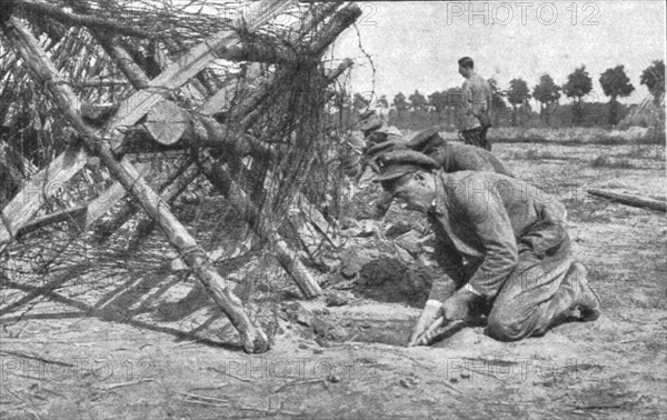
{"label": "row of dark round-topped trees along the horizon", "polygon": [[[551,76],[545,73],[532,87],[521,79],[510,80],[509,87],[502,90],[495,79],[489,79],[492,91],[492,110],[495,126],[616,126],[628,112],[618,98],[628,97],[635,87],[625,72],[623,64],[609,68],[599,77],[603,92],[609,98],[608,103],[599,103],[593,92],[593,79],[586,66],[581,66],[567,77],[563,86],[556,84]],[[641,73],[640,84],[645,84],[658,104],[665,94],[665,62],[656,60]],[[391,102],[386,96],[374,98],[356,93],[348,98],[350,111],[364,112],[369,107],[377,107],[389,117],[389,122],[399,128],[422,128],[425,126],[456,126],[457,107],[460,103],[461,89],[454,87],[436,91],[428,96],[415,90],[406,97],[397,93]],[[563,96],[570,99],[569,104],[560,104]],[[532,100],[532,101],[531,101]],[[532,104],[531,104],[532,102]],[[536,110],[534,110],[536,106]]]}

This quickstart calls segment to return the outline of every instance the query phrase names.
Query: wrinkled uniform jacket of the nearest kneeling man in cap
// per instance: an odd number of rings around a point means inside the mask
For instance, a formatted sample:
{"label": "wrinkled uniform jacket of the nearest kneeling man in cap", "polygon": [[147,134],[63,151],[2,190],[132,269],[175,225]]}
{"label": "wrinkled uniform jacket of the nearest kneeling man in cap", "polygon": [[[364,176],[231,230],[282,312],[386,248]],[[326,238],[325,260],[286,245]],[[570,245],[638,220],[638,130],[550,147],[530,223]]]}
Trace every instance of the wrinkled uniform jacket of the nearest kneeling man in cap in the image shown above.
{"label": "wrinkled uniform jacket of the nearest kneeling man in cap", "polygon": [[[438,172],[428,219],[447,277],[494,298],[519,259],[569,253],[566,210],[552,196],[498,173]],[[464,262],[467,262],[464,266]],[[448,279],[436,280],[431,296]]]}

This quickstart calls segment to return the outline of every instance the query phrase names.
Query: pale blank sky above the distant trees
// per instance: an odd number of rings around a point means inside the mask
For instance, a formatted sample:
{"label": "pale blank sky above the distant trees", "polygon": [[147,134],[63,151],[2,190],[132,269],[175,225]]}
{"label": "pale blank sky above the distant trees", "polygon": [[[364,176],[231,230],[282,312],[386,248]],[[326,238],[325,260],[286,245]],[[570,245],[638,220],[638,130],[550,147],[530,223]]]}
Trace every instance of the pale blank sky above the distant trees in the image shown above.
{"label": "pale blank sky above the distant trees", "polygon": [[[357,30],[348,29],[336,42],[334,57],[351,57],[359,66],[351,89],[372,89],[389,102],[401,91],[432,93],[460,86],[457,60],[470,56],[476,70],[507,89],[514,78],[529,88],[549,73],[558,84],[586,64],[594,80],[590,100],[607,101],[600,73],[625,64],[635,92],[624,102],[639,102],[648,90],[639,84],[641,71],[665,59],[664,1],[508,1],[358,2],[364,13]],[[576,14],[575,14],[576,10]],[[486,21],[485,21],[486,20]],[[575,24],[576,23],[576,24]]]}

